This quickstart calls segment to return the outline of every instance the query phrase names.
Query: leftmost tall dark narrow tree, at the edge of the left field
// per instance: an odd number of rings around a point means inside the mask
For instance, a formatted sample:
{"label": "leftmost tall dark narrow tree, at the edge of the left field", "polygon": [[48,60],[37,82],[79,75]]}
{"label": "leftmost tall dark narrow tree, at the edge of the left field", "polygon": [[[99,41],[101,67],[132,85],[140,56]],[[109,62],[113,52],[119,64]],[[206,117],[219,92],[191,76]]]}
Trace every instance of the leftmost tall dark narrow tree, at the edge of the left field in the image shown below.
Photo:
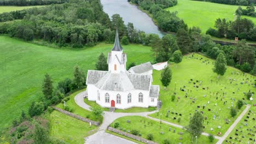
{"label": "leftmost tall dark narrow tree, at the edge of the left field", "polygon": [[45,74],[43,82],[43,94],[46,99],[51,99],[51,97],[53,96],[53,81],[48,74]]}

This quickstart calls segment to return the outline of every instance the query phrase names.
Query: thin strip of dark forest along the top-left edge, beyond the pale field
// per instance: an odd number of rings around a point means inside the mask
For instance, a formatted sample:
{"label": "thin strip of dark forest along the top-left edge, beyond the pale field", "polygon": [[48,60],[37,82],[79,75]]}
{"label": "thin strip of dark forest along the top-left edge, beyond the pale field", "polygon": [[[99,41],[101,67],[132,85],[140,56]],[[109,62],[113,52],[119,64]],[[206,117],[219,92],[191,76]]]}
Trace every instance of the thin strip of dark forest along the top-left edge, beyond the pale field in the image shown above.
{"label": "thin strip of dark forest along the top-left edge, beyond the pale field", "polygon": [[69,2],[69,0],[0,0],[0,5],[17,5],[17,6],[28,6],[28,5],[49,5],[49,4],[60,4]]}

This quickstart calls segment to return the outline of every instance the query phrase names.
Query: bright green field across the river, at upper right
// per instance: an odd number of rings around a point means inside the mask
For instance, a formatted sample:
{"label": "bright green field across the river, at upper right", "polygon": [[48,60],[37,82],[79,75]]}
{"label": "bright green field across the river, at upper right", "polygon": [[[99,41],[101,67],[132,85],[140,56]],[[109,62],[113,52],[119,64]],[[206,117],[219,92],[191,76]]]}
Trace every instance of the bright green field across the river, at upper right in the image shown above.
{"label": "bright green field across the river, at upper right", "polygon": [[[199,2],[190,0],[178,0],[174,7],[167,8],[169,11],[178,11],[178,16],[188,24],[189,27],[198,26],[205,33],[208,28],[214,27],[216,19],[233,20],[237,5],[226,5],[210,2]],[[245,8],[245,7],[243,7]],[[256,18],[247,17],[256,23]]]}

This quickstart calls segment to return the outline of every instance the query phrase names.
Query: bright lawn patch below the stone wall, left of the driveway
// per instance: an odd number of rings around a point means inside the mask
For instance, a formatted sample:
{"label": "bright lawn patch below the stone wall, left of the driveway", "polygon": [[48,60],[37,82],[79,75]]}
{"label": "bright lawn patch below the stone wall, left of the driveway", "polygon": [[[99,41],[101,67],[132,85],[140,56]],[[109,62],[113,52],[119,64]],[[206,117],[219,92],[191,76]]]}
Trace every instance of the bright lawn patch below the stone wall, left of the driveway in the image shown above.
{"label": "bright lawn patch below the stone wall, left of the driveway", "polygon": [[61,112],[53,111],[49,116],[50,136],[68,143],[84,143],[84,137],[96,133],[97,127],[89,123],[69,117]]}

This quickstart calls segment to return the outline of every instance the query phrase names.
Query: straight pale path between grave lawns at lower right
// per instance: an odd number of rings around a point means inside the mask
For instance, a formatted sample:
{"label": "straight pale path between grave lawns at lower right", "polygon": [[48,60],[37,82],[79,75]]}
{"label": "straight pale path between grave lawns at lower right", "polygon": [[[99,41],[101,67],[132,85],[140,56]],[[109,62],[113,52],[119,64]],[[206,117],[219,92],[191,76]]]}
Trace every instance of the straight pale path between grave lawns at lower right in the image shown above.
{"label": "straight pale path between grave lawns at lower right", "polygon": [[231,133],[231,131],[236,127],[237,123],[240,122],[240,120],[245,116],[246,112],[250,109],[251,105],[246,105],[246,109],[243,110],[243,112],[240,114],[239,117],[237,117],[236,121],[229,127],[229,129],[226,131],[226,133],[221,137],[221,139],[216,144],[221,144],[223,141],[228,137],[228,135]]}

